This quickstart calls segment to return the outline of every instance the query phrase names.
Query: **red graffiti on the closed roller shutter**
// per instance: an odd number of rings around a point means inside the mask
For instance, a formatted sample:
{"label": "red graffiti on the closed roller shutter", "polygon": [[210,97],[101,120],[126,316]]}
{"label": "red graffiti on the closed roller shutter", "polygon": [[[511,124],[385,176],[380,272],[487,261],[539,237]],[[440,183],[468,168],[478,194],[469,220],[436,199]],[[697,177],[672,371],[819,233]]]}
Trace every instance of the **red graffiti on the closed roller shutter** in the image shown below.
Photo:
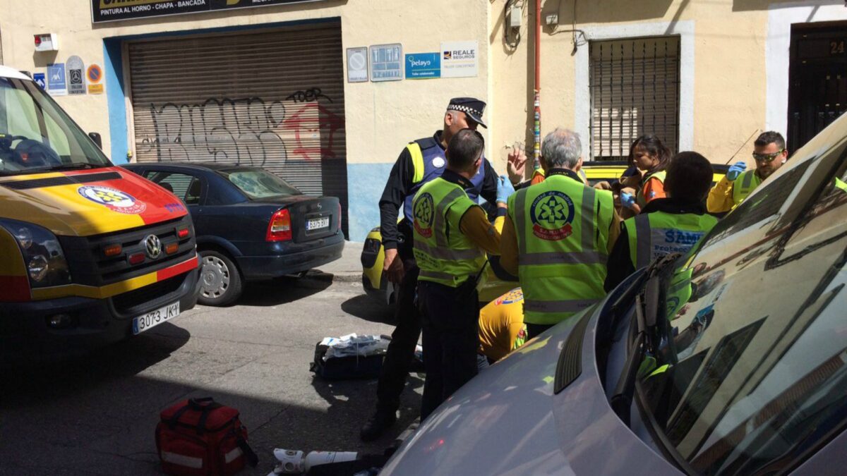
{"label": "red graffiti on the closed roller shutter", "polygon": [[283,125],[294,132],[294,147],[289,152],[293,156],[307,160],[337,157],[333,140],[335,132],[344,129],[344,118],[318,102],[303,104]]}

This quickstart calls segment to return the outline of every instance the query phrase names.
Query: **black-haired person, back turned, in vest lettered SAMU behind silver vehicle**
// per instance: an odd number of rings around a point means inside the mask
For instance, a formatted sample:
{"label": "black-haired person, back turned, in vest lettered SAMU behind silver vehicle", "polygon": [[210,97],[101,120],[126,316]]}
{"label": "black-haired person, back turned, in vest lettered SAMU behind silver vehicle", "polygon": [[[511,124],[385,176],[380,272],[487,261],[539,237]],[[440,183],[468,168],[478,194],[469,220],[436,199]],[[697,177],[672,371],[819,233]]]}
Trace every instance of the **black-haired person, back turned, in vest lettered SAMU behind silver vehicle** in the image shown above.
{"label": "black-haired person, back turned, in vest lettered SAMU behind silver vehicle", "polygon": [[606,291],[657,257],[688,252],[717,224],[703,199],[711,187],[711,163],[697,152],[679,152],[667,169],[666,198],[656,198],[623,222],[609,255]]}

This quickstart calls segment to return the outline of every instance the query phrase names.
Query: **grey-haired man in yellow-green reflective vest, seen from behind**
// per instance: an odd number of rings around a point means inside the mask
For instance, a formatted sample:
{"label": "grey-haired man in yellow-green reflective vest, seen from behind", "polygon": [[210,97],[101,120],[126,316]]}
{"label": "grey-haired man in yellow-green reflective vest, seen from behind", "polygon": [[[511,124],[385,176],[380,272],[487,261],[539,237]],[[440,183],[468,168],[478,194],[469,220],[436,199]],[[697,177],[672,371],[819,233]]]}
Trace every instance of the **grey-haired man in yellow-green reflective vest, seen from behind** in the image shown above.
{"label": "grey-haired man in yellow-green reflective vest, seen from behind", "polygon": [[520,280],[528,339],[606,296],[606,257],[619,232],[612,192],[579,177],[575,132],[545,136],[541,155],[545,180],[509,199],[500,246],[502,267]]}

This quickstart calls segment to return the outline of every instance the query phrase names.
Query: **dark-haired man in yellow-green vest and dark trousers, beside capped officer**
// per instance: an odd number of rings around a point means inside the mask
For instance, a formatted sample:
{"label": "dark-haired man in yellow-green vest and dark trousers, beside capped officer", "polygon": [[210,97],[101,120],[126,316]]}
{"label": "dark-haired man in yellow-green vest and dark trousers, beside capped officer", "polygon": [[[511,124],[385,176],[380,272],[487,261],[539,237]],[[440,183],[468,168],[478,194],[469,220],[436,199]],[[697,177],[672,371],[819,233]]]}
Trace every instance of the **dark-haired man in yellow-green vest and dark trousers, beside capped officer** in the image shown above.
{"label": "dark-haired man in yellow-green vest and dark trousers, beside capped officer", "polygon": [[[422,421],[477,374],[477,278],[485,253],[500,247],[500,233],[465,191],[482,166],[483,149],[479,132],[458,131],[447,145],[447,169],[422,186],[412,201],[426,369]],[[502,220],[514,188],[505,176],[497,183],[497,219]]]}

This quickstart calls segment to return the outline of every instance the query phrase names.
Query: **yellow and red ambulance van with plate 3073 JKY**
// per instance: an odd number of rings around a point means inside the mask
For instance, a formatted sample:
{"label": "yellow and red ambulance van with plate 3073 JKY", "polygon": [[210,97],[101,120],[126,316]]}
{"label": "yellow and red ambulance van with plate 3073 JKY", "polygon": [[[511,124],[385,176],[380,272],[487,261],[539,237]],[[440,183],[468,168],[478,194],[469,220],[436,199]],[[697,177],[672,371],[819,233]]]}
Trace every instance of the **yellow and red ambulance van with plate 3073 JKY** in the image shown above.
{"label": "yellow and red ambulance van with plate 3073 JKY", "polygon": [[29,77],[0,66],[0,348],[124,339],[197,302],[180,199],[114,167]]}

